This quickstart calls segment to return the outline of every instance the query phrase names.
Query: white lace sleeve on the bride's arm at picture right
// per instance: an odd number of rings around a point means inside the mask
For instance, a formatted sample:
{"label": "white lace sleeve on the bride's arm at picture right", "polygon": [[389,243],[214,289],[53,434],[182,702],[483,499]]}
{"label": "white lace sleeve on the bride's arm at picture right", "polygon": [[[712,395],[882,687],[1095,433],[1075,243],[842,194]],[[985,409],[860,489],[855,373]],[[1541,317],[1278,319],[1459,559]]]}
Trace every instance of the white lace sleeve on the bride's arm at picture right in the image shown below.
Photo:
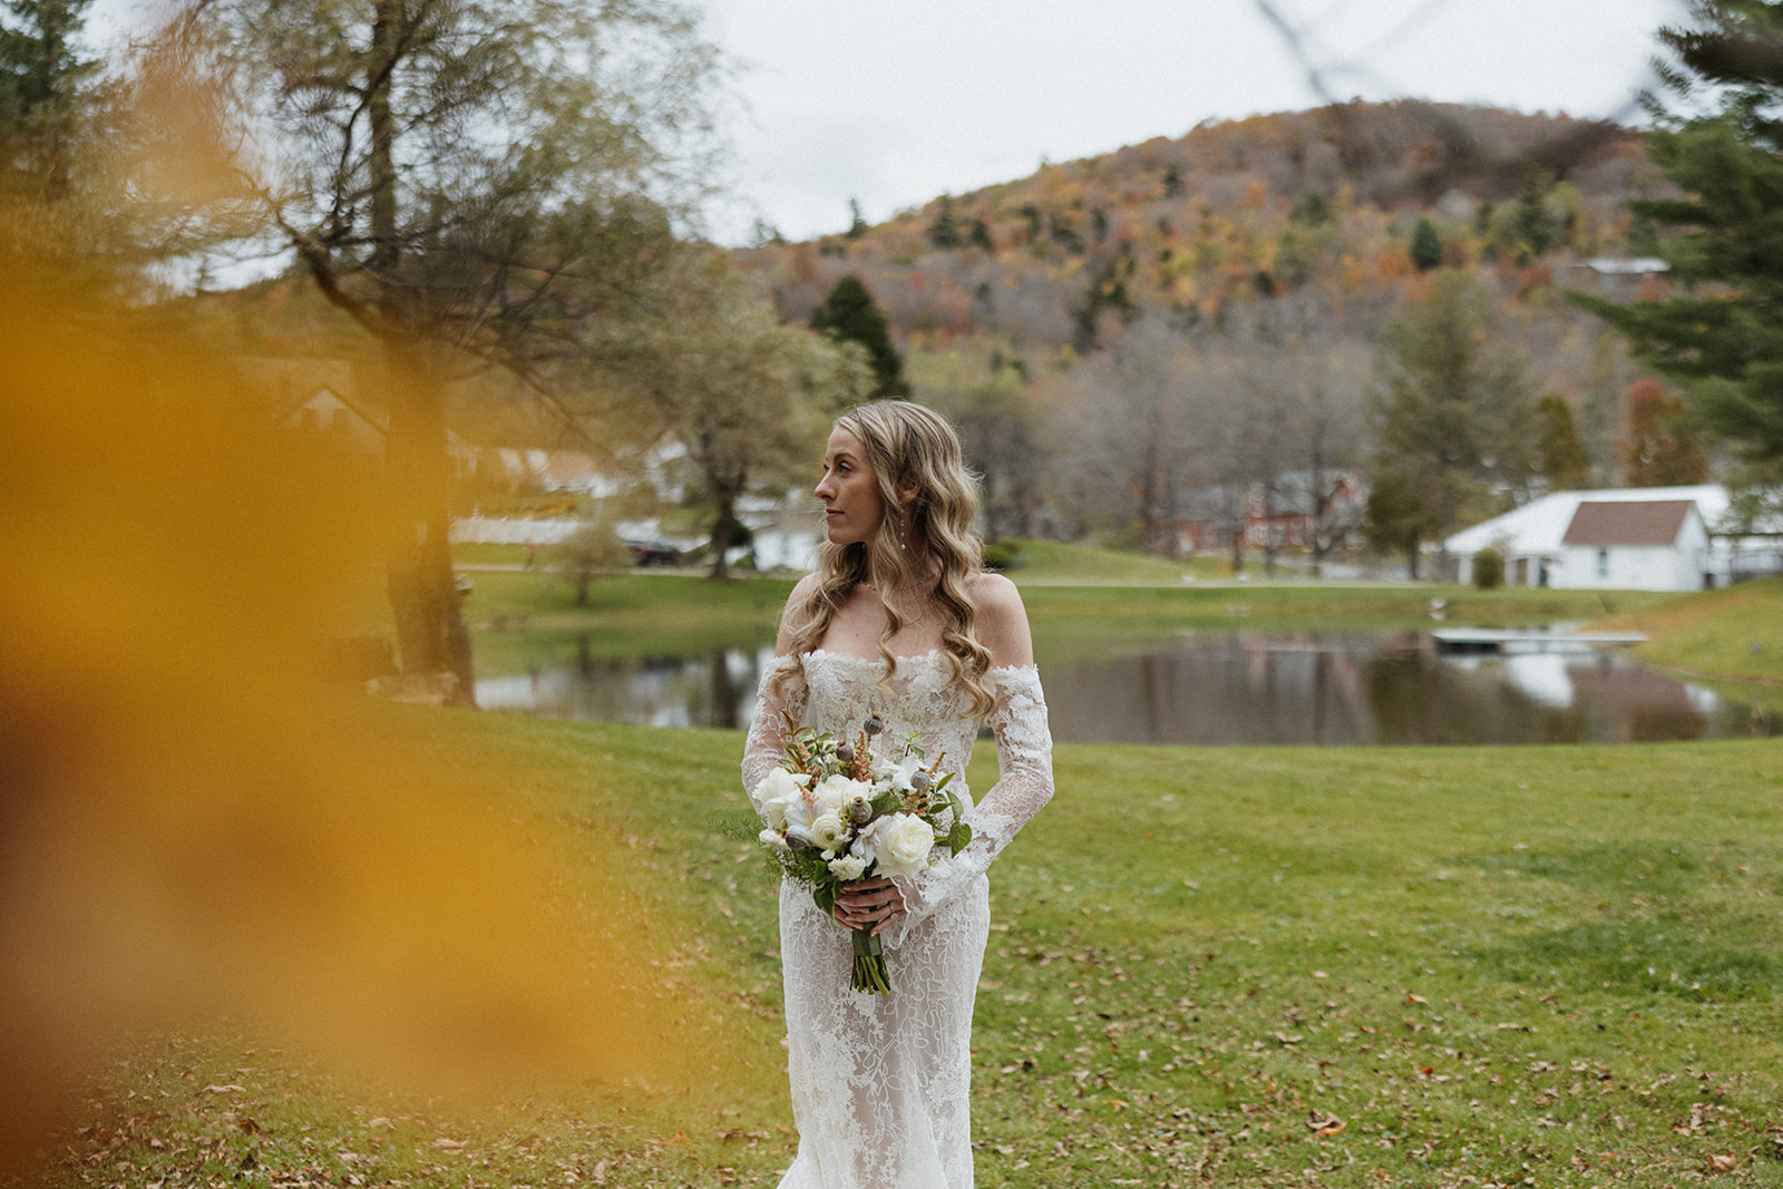
{"label": "white lace sleeve on the bride's arm at picture right", "polygon": [[899,879],[906,914],[886,931],[902,945],[909,931],[952,900],[991,865],[1016,831],[1052,800],[1052,731],[1047,729],[1047,699],[1034,668],[993,668],[991,693],[997,708],[990,727],[997,736],[997,784],[966,809],[972,843],[957,856],[911,879]]}

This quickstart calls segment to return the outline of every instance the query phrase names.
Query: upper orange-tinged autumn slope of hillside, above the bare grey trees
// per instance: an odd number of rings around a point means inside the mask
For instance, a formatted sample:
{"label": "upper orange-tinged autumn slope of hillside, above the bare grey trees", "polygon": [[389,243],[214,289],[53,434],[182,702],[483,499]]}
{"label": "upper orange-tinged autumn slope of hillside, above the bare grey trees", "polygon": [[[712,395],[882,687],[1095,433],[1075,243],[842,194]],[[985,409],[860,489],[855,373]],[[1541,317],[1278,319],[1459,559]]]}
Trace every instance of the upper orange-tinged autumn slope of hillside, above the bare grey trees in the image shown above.
{"label": "upper orange-tinged autumn slope of hillside, above the bare grey trees", "polygon": [[[1080,348],[1077,314],[1097,285],[1118,283],[1116,301],[1139,310],[1207,317],[1307,289],[1332,303],[1378,298],[1414,273],[1409,241],[1425,216],[1450,264],[1528,264],[1516,203],[1532,178],[1557,232],[1551,250],[1567,262],[1624,250],[1623,203],[1662,185],[1628,128],[1346,103],[1048,164],[852,237],[765,244],[738,260],[793,321],[852,271],[913,349],[974,332],[1016,348]],[[952,234],[938,234],[943,210]]]}

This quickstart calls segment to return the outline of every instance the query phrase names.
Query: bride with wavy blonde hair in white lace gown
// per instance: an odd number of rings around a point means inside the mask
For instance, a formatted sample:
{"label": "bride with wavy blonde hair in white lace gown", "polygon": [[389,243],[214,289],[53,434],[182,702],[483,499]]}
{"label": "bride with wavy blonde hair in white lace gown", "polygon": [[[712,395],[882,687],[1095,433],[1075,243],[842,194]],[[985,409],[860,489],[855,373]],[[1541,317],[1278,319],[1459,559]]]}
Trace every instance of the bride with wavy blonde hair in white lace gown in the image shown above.
{"label": "bride with wavy blonde hair in white lace gown", "polygon": [[[1052,738],[1015,585],[979,567],[974,480],[934,412],[874,401],[843,414],[817,485],[827,542],[781,615],[744,754],[754,790],[793,726],[886,738],[915,731],[945,756],[972,843],[911,879],[836,898],[781,886],[788,1073],[799,1155],[781,1189],[972,1185],[972,998],[990,936],[986,868],[1052,797]],[[997,784],[974,804],[965,768],[981,724]],[[758,809],[761,806],[756,806]],[[890,995],[849,989],[850,931],[884,945]]]}

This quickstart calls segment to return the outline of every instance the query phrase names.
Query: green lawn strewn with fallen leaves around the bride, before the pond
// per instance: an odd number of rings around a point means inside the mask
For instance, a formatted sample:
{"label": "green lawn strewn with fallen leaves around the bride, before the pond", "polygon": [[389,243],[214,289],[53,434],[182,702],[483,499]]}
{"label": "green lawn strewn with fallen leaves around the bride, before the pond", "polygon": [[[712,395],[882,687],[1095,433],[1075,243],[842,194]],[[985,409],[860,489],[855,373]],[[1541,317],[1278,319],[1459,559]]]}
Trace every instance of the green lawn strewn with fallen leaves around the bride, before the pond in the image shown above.
{"label": "green lawn strewn with fallen leaves around the bride, before the pond", "polygon": [[[776,1184],[774,893],[713,816],[744,808],[740,736],[369,713],[569,891],[585,831],[624,840],[640,900],[679,922],[665,979],[727,1037],[724,1084],[471,1116],[218,1025],[94,1068],[45,1180]],[[1056,761],[991,872],[979,1184],[1685,1185],[1724,1157],[1724,1184],[1783,1185],[1779,743]],[[981,749],[974,788],[991,768]]]}

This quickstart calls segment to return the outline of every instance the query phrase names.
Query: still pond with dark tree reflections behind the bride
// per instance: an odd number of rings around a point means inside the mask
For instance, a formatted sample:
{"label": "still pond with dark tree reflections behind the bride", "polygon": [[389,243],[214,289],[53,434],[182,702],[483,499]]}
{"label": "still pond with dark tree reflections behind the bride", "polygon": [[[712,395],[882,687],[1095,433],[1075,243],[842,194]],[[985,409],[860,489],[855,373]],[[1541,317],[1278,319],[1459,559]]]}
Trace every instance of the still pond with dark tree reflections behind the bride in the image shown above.
{"label": "still pond with dark tree reflections behind the bride", "polygon": [[[772,647],[590,658],[485,677],[485,709],[744,727]],[[1041,660],[1066,743],[1628,743],[1779,734],[1783,722],[1615,651],[1439,654],[1428,633],[1193,631]]]}

